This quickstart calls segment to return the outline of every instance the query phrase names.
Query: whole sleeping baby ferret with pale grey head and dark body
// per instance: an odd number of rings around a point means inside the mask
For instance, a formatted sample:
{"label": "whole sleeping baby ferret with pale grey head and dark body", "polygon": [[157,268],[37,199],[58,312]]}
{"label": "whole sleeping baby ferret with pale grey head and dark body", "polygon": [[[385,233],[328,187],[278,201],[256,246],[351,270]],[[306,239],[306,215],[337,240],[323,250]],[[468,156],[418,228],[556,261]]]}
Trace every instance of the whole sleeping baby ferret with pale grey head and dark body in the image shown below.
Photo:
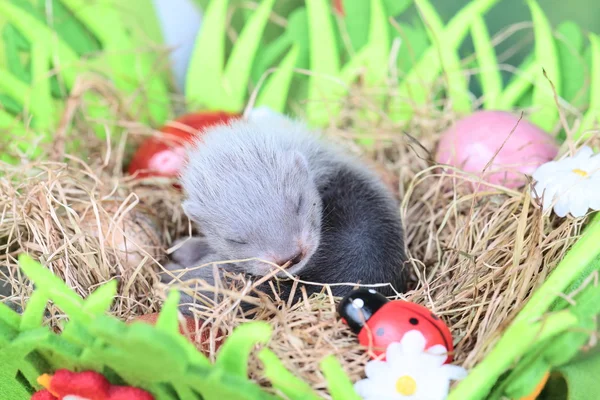
{"label": "whole sleeping baby ferret with pale grey head and dark body", "polygon": [[[271,115],[210,128],[188,152],[181,184],[183,208],[204,237],[188,239],[169,270],[257,258],[306,282],[390,284],[377,288],[385,295],[406,290],[397,201],[360,160],[299,121]],[[219,267],[256,278],[273,270],[263,261]],[[213,268],[190,269],[188,278],[212,284]],[[292,283],[276,285],[281,298]],[[305,287],[309,295],[322,289]],[[335,296],[352,289],[331,286]]]}

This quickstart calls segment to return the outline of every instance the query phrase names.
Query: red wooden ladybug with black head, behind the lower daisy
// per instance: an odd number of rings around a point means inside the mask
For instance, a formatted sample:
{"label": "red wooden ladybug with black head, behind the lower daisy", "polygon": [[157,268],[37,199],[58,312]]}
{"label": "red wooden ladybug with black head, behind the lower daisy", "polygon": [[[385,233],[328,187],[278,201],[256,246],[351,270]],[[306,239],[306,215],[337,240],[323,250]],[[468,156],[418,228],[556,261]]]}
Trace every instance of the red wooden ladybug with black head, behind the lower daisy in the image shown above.
{"label": "red wooden ladybug with black head, behind the lower daisy", "polygon": [[452,362],[452,334],[427,308],[404,300],[388,300],[373,289],[358,289],[342,299],[338,306],[342,321],[368,347],[372,358],[383,359],[392,342],[399,342],[408,331],[418,330],[425,336],[427,347],[443,345],[448,350],[445,363]]}

